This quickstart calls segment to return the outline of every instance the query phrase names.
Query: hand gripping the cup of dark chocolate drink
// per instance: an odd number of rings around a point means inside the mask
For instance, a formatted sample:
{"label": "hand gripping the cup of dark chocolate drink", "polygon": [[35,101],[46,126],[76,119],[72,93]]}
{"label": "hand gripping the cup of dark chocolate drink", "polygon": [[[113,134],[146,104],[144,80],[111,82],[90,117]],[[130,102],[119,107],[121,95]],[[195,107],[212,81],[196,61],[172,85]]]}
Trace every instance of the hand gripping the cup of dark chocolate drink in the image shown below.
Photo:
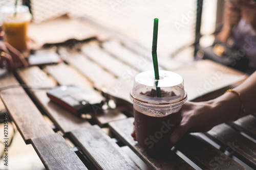
{"label": "hand gripping the cup of dark chocolate drink", "polygon": [[[240,100],[231,92],[206,102],[186,102],[181,110],[182,120],[170,135],[170,141],[176,143],[185,133],[207,132],[216,125],[234,120],[239,109]],[[132,137],[136,140],[135,131]]]}

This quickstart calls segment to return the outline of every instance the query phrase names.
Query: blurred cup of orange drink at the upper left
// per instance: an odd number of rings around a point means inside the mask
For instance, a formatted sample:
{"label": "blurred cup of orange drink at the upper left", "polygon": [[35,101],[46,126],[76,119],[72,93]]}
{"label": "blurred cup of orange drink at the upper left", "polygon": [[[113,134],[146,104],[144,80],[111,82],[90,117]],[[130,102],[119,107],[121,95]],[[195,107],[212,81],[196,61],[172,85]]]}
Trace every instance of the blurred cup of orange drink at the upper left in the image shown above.
{"label": "blurred cup of orange drink at the upper left", "polygon": [[[16,13],[15,13],[16,12]],[[4,39],[20,52],[27,51],[27,32],[32,18],[27,6],[7,6],[0,10]]]}

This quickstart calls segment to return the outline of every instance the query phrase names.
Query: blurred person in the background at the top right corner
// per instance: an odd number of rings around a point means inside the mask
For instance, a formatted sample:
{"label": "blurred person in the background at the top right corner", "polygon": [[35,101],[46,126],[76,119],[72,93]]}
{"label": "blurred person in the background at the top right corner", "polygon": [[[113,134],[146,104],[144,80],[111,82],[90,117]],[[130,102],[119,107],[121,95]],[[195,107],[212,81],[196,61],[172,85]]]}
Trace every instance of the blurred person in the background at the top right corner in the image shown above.
{"label": "blurred person in the background at the top right corner", "polygon": [[241,49],[240,52],[249,59],[249,72],[256,70],[256,2],[226,1],[224,25],[216,39]]}

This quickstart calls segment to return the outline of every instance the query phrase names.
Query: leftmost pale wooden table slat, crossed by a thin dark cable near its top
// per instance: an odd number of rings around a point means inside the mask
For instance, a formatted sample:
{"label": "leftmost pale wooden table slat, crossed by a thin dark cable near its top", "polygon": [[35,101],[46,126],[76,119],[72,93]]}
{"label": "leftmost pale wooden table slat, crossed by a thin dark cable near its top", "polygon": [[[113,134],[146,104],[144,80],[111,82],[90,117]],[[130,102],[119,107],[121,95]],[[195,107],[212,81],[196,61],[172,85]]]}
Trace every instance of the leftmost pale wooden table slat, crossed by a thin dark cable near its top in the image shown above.
{"label": "leftmost pale wooden table slat, crossed by a thin dark cable near its top", "polygon": [[[19,84],[13,75],[0,79],[0,87]],[[53,134],[44,117],[21,87],[1,91],[0,94],[19,133],[28,144],[33,137]]]}

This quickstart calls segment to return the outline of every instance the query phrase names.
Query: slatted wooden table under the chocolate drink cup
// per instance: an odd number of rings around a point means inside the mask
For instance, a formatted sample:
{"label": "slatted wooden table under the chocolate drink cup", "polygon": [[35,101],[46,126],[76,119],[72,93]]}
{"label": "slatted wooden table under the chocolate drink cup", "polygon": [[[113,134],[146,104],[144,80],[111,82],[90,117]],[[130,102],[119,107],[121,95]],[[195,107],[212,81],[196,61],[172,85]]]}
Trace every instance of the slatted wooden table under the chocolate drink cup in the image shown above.
{"label": "slatted wooden table under the chocolate drink cup", "polygon": [[[5,105],[19,133],[27,144],[33,145],[47,169],[256,168],[255,115],[221,124],[207,133],[187,134],[165,158],[148,156],[131,137],[134,118],[129,91],[134,76],[148,69],[147,65],[134,66],[141,61],[151,65],[151,56],[144,56],[145,50],[131,41],[107,37],[81,44],[80,50],[59,47],[57,52],[63,62],[18,69],[14,75],[0,79],[0,88],[20,83],[47,88],[76,85],[96,90],[116,103],[115,109],[98,110],[81,118],[50,101],[47,90],[17,87],[1,91],[0,107]],[[174,70],[168,62],[161,60],[159,65]],[[222,68],[210,61],[196,65],[204,65],[202,71]],[[232,69],[225,71],[241,75]],[[195,101],[215,98],[229,87]],[[49,117],[53,125],[44,117]],[[130,154],[125,152],[128,147]]]}

